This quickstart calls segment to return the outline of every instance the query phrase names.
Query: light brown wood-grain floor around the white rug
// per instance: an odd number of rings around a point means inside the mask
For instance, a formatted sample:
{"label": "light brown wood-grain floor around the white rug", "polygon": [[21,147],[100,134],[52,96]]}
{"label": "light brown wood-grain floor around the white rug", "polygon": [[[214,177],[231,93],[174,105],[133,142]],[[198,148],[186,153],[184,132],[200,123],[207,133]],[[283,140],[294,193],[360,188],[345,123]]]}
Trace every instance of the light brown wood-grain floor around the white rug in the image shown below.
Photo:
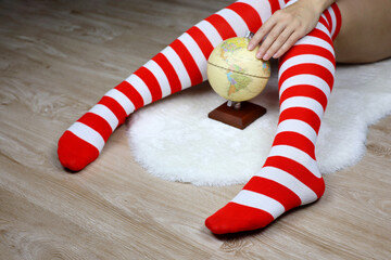
{"label": "light brown wood-grain floor around the white rug", "polygon": [[214,236],[204,219],[241,188],[162,181],[126,128],[84,171],[63,131],[112,87],[227,0],[0,1],[0,259],[390,259],[391,116],[367,153],[326,176],[316,204],[268,227]]}

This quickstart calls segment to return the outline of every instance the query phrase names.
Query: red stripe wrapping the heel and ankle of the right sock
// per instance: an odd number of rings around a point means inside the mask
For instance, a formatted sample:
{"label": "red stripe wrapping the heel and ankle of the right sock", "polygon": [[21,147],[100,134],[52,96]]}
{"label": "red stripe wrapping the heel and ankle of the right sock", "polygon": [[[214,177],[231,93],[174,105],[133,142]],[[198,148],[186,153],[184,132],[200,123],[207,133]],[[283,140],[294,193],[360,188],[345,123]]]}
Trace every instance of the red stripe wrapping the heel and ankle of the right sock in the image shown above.
{"label": "red stripe wrapping the heel and ankle of the right sock", "polygon": [[307,187],[313,190],[314,193],[316,193],[316,195],[318,196],[318,198],[325,192],[325,182],[323,178],[317,178],[307,168],[292,159],[281,156],[272,156],[268,157],[265,161],[264,167],[267,166],[275,167],[288,172],[289,174],[304,183]]}

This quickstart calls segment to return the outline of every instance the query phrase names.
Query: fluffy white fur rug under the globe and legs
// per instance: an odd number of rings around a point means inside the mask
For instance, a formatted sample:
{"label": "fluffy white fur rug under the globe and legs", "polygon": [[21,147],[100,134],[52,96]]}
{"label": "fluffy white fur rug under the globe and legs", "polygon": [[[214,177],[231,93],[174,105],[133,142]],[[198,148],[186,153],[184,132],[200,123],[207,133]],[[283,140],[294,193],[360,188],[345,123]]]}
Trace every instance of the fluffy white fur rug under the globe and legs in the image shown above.
{"label": "fluffy white fur rug under the globe and legs", "polygon": [[[195,185],[245,183],[270,148],[278,121],[277,68],[252,102],[267,113],[244,130],[207,118],[224,100],[207,83],[136,112],[130,148],[148,172]],[[338,66],[316,146],[321,173],[350,167],[365,154],[368,126],[391,114],[391,58]]]}

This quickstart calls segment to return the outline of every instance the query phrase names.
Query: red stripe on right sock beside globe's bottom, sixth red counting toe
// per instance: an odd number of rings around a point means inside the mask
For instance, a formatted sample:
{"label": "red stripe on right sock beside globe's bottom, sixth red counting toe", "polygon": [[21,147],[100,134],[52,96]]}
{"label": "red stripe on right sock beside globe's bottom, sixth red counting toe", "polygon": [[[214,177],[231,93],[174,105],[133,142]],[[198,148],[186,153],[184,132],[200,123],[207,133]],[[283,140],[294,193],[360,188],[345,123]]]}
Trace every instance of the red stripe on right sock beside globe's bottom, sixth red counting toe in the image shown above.
{"label": "red stripe on right sock beside globe's bottom, sixth red counting toe", "polygon": [[326,110],[327,96],[320,89],[318,89],[314,86],[297,84],[297,86],[292,86],[292,87],[286,89],[280,96],[280,102],[279,102],[280,105],[282,104],[282,102],[285,100],[292,98],[292,96],[307,96],[307,98],[314,99],[317,102],[319,102],[320,105],[323,106],[324,110]]}

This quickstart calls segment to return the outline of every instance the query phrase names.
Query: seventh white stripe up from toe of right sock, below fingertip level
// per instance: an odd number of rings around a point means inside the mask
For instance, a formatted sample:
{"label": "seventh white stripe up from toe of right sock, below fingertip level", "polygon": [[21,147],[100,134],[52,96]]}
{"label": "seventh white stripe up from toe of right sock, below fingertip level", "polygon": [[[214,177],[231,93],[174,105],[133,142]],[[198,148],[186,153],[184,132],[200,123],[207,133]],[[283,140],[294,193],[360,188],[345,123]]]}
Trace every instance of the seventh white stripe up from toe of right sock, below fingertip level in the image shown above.
{"label": "seventh white stripe up from toe of right sock, below fingertip level", "polygon": [[287,61],[285,61],[278,70],[278,77],[280,77],[286,69],[288,69],[294,65],[305,64],[305,63],[320,65],[320,66],[327,68],[332,75],[335,75],[335,70],[336,70],[335,66],[326,57],[315,55],[315,54],[302,54],[302,55],[292,56],[292,57],[288,58]]}

